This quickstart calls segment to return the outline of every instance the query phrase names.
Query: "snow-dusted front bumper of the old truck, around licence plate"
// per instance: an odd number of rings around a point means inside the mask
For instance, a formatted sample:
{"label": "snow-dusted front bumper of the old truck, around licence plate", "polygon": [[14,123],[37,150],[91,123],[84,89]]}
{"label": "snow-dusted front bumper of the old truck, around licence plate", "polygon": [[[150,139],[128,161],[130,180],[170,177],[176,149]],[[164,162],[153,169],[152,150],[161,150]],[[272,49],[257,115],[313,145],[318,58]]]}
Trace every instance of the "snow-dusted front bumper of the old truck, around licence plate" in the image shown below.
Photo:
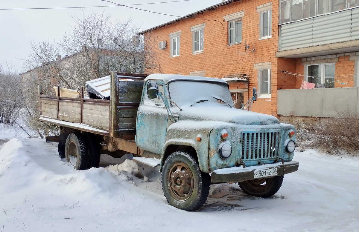
{"label": "snow-dusted front bumper of the old truck, around licence plate", "polygon": [[[284,162],[283,164],[264,164],[264,165],[257,165],[251,167],[232,167],[232,168],[223,168],[223,169],[216,169],[211,173],[211,182],[212,183],[223,183],[223,182],[243,182],[246,180],[253,180],[254,173],[258,170],[264,169],[272,169],[277,168],[277,175],[284,175],[287,173],[292,173],[297,171],[299,167],[299,162],[291,161],[291,162]],[[273,177],[273,176],[271,176]]]}

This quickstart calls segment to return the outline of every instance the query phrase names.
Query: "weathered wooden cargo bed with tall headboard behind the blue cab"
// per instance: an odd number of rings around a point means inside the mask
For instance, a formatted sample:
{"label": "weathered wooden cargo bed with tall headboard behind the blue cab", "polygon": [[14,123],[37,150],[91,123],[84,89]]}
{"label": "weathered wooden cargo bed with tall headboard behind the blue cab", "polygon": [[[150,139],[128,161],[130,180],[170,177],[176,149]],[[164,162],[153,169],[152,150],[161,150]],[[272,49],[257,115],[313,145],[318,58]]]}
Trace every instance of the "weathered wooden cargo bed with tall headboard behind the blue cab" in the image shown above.
{"label": "weathered wooden cargo bed with tall headboard behind the blue cab", "polygon": [[[111,73],[110,100],[43,96],[39,93],[39,120],[94,134],[134,138],[137,108],[145,74]],[[126,76],[134,81],[119,81]]]}

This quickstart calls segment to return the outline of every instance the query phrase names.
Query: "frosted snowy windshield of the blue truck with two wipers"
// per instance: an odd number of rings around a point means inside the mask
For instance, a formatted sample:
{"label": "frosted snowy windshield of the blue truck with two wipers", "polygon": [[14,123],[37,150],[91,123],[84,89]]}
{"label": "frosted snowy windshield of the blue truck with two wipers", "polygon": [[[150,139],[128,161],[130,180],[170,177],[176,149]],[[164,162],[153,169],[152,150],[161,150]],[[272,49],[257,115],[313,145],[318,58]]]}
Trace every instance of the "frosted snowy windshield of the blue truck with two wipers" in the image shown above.
{"label": "frosted snowy windshield of the blue truck with two wipers", "polygon": [[225,84],[199,81],[173,81],[168,85],[171,100],[179,106],[217,103],[234,107],[232,97]]}

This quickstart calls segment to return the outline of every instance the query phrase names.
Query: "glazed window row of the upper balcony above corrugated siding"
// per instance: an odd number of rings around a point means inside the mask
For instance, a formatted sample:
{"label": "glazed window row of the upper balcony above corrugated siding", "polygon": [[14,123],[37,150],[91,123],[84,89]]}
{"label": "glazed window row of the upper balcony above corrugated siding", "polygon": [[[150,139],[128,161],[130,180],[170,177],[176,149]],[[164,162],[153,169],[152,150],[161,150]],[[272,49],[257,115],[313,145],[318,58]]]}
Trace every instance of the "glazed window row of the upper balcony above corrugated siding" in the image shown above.
{"label": "glazed window row of the upper balcony above corrugated siding", "polygon": [[359,0],[283,0],[280,1],[280,23],[359,6]]}

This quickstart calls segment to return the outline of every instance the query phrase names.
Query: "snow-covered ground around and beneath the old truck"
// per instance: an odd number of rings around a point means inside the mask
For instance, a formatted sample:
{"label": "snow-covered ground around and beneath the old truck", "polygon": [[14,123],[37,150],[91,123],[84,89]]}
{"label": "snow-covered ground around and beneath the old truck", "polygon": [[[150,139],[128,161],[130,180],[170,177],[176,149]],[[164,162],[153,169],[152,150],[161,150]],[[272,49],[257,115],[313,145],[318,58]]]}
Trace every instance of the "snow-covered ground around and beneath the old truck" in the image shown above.
{"label": "snow-covered ground around and beneath the old truck", "polygon": [[[0,131],[1,138],[9,135]],[[354,232],[359,228],[358,158],[297,152],[299,170],[285,175],[273,197],[251,197],[237,184],[215,184],[207,202],[194,212],[167,203],[158,168],[138,166],[132,160],[114,165],[124,160],[103,155],[101,168],[76,171],[59,158],[55,143],[11,139],[0,148],[0,231]]]}

